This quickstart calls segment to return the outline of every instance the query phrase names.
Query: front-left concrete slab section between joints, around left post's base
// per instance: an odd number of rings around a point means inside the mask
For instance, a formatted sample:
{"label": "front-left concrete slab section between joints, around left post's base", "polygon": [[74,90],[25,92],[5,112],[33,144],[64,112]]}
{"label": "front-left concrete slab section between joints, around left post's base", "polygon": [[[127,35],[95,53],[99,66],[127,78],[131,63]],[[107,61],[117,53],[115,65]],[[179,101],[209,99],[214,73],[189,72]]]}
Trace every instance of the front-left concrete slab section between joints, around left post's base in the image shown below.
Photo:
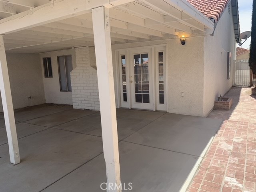
{"label": "front-left concrete slab section between joints, around left post's base", "polygon": [[0,191],[38,192],[103,152],[95,136],[48,129],[19,139],[21,163],[9,163],[0,146]]}

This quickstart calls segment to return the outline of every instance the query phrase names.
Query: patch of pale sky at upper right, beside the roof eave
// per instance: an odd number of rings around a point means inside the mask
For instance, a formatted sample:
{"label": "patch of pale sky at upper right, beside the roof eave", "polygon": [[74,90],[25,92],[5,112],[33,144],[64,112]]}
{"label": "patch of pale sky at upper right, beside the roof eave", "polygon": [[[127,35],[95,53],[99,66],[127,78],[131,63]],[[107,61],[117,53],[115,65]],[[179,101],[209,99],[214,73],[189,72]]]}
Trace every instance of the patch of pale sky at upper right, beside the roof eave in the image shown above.
{"label": "patch of pale sky at upper right, beside the roof eave", "polygon": [[[252,25],[252,0],[238,0],[240,32],[251,31]],[[244,40],[242,40],[243,42]],[[251,38],[242,45],[242,48],[249,49]],[[237,44],[237,46],[239,46]]]}

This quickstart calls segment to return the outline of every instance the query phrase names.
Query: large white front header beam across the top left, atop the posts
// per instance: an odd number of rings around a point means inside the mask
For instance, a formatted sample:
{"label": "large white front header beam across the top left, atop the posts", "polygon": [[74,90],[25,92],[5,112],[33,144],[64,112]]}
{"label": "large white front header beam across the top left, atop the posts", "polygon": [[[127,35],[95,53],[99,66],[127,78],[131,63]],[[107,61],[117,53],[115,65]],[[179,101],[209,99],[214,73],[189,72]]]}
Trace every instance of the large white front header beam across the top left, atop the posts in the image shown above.
{"label": "large white front header beam across the top left, atop the posts", "polygon": [[[127,0],[112,1],[119,5]],[[99,6],[113,7],[109,0],[54,0],[42,6],[31,8],[13,17],[0,20],[0,34],[28,29],[51,22],[56,22],[65,18],[89,13],[92,8]]]}

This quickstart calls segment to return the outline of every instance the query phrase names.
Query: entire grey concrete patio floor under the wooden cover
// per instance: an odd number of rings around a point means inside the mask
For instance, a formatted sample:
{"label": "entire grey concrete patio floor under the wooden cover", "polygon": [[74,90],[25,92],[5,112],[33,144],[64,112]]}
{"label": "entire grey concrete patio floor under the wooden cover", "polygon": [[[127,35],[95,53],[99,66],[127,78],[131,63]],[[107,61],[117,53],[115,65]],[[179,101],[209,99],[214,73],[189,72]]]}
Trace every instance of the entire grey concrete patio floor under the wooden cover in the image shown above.
{"label": "entire grey concrete patio floor under the wooden cover", "polygon": [[[22,161],[16,166],[9,163],[5,129],[0,128],[0,192],[102,191],[106,169],[100,112],[41,107],[41,116],[40,106],[15,112],[20,120],[28,119],[17,124]],[[46,110],[51,107],[53,114]],[[178,192],[202,160],[200,152],[220,122],[118,109],[122,182],[126,187],[132,182],[135,192]]]}

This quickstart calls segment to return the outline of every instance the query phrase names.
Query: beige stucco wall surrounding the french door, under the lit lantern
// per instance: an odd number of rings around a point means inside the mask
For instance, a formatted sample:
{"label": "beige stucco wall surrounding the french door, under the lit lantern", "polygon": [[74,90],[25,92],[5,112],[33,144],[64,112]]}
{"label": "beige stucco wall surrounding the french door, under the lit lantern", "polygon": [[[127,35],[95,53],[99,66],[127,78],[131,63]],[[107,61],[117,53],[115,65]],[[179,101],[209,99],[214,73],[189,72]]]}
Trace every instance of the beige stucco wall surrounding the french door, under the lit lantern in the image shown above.
{"label": "beige stucco wall surrounding the french door, under the lit lantern", "polygon": [[[168,112],[203,116],[203,38],[188,38],[184,46],[180,39],[113,45],[113,62],[116,60],[115,50],[159,44],[167,45]],[[117,92],[116,73],[114,64]],[[117,97],[116,93],[116,100]]]}

